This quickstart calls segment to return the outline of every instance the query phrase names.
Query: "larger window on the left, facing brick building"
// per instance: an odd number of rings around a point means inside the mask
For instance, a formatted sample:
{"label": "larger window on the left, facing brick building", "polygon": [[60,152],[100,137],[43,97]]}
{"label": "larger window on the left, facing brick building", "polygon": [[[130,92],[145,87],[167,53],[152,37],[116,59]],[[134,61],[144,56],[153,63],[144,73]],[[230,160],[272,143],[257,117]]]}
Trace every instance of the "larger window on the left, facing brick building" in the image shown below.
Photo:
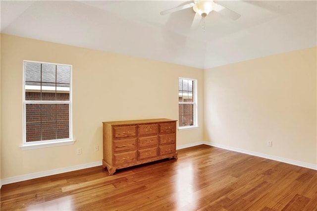
{"label": "larger window on the left, facing brick building", "polygon": [[71,65],[24,61],[24,144],[72,139]]}

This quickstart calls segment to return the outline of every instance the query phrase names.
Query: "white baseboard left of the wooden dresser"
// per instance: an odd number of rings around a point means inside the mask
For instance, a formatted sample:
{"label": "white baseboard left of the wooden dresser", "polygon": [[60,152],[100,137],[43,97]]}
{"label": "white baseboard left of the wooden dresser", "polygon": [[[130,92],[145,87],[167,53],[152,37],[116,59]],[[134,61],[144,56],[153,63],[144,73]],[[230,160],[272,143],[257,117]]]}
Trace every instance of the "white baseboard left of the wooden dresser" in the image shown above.
{"label": "white baseboard left of the wooden dresser", "polygon": [[102,165],[102,161],[97,161],[97,162],[91,162],[91,163],[86,163],[86,164],[80,164],[80,165],[74,165],[74,166],[69,166],[69,167],[64,167],[64,168],[57,168],[53,170],[48,170],[48,171],[41,171],[41,172],[36,172],[36,173],[31,173],[31,174],[24,174],[21,176],[14,176],[14,177],[8,177],[1,179],[0,184],[6,185],[14,182],[21,182],[29,179],[36,179],[40,177],[45,177],[45,176],[51,176],[54,174],[60,174],[60,173],[66,173],[70,171],[76,171],[80,169],[85,169],[85,168],[91,168],[95,166],[100,166]]}

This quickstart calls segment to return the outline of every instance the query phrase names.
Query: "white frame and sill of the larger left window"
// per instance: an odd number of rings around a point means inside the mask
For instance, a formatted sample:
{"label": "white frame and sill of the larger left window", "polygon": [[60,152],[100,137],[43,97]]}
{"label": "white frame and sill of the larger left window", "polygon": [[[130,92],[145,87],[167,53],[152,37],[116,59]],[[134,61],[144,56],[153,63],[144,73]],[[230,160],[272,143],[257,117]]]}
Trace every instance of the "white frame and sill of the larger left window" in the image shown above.
{"label": "white frame and sill of the larger left window", "polygon": [[[27,62],[69,66],[70,67],[69,101],[26,101],[25,90],[34,89],[34,87],[30,85],[25,85],[25,64]],[[72,68],[73,66],[70,64],[59,64],[59,63],[23,60],[23,145],[20,146],[21,150],[32,150],[32,149],[39,149],[39,148],[46,148],[46,147],[71,145],[75,143],[75,140],[73,140],[73,133],[72,133]],[[26,86],[28,86],[27,87],[28,89],[26,89]],[[47,88],[48,88],[47,90],[51,90],[52,87],[47,87]],[[68,90],[65,90],[65,88],[62,88],[62,89],[64,90],[59,90],[59,91],[68,91]],[[69,105],[69,138],[26,142],[26,105],[27,104],[68,104]]]}

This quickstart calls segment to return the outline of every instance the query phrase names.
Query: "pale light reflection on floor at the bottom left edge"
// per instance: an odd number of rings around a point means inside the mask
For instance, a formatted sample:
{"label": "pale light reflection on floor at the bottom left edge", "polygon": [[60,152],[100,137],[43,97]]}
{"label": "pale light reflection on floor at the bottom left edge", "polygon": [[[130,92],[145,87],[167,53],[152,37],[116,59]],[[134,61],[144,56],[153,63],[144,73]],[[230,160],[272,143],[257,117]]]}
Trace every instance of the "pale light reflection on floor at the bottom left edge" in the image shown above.
{"label": "pale light reflection on floor at the bottom left edge", "polygon": [[72,196],[44,202],[41,204],[31,205],[27,211],[73,211]]}

